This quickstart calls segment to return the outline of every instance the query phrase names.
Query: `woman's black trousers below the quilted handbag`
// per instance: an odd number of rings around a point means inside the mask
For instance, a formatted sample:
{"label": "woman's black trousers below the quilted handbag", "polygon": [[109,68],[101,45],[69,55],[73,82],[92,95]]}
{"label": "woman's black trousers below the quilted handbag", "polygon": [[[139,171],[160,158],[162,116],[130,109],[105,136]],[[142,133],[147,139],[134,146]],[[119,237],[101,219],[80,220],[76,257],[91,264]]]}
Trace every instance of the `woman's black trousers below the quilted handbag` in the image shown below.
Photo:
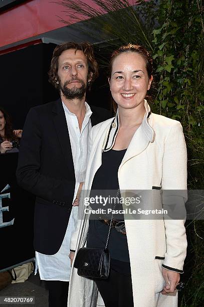
{"label": "woman's black trousers below the quilted handbag", "polygon": [[131,275],[110,270],[106,280],[95,280],[106,307],[134,307]]}

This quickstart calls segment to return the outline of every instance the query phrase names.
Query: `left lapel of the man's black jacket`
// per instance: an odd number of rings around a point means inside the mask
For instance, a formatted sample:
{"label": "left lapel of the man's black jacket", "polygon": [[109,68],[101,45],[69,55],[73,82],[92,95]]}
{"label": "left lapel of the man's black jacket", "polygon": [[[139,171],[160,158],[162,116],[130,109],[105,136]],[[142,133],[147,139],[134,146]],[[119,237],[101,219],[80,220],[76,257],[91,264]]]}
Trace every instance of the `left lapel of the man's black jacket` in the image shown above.
{"label": "left lapel of the man's black jacket", "polygon": [[63,155],[65,157],[67,167],[69,171],[73,173],[73,177],[75,177],[69,130],[67,127],[67,120],[61,99],[56,101],[52,111],[53,111],[53,122],[56,128],[56,132],[58,135]]}

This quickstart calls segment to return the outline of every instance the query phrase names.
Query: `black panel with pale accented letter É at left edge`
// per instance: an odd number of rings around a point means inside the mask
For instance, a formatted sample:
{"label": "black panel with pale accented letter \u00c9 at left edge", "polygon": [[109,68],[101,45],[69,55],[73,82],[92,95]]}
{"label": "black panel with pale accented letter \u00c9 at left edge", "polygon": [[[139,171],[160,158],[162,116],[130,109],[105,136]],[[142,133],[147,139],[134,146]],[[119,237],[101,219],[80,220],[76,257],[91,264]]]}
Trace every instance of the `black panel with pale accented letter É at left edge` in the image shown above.
{"label": "black panel with pale accented letter \u00c9 at left edge", "polygon": [[[3,222],[14,220],[14,224],[0,227],[1,252],[0,270],[17,265],[35,257],[33,248],[33,219],[35,196],[17,185],[16,168],[18,153],[1,155],[0,194],[10,193],[11,198],[2,200],[3,207],[9,211],[3,212]],[[8,167],[9,166],[9,167]],[[10,189],[1,191],[10,185]]]}

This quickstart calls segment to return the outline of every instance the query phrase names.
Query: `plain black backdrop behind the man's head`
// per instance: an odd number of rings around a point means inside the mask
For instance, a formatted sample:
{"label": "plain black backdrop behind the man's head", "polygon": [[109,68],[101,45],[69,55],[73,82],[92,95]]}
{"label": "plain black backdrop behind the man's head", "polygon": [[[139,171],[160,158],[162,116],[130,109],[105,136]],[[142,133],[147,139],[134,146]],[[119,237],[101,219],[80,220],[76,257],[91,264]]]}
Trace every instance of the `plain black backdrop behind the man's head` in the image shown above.
{"label": "plain black backdrop behind the man's head", "polygon": [[[13,128],[22,129],[31,107],[54,101],[58,91],[48,81],[48,71],[55,44],[38,44],[0,56],[2,75],[1,102],[12,116]],[[99,50],[96,50],[96,58]],[[87,92],[90,105],[110,109],[106,69]]]}

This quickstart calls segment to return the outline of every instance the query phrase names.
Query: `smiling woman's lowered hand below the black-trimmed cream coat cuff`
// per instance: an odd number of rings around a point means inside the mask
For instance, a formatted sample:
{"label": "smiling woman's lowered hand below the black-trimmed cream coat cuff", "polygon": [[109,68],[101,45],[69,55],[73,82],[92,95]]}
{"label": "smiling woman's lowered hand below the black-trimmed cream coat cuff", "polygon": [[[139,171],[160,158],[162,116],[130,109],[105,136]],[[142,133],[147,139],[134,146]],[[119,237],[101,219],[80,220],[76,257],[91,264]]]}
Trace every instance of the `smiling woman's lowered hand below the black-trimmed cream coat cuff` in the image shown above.
{"label": "smiling woman's lowered hand below the black-trimmed cream coat cuff", "polygon": [[161,291],[161,293],[162,294],[173,293],[175,291],[176,285],[180,280],[180,274],[162,268],[162,275],[165,280],[165,286]]}

